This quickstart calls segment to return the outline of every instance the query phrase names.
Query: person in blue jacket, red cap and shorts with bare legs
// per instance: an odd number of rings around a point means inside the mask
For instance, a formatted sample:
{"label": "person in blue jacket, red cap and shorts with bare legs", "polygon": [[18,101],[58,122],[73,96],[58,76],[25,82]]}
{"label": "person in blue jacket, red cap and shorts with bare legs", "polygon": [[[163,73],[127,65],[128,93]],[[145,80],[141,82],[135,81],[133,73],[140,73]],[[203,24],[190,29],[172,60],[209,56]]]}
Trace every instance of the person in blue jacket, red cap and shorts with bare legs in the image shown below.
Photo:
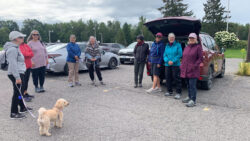
{"label": "person in blue jacket, red cap and shorts with bare legs", "polygon": [[147,93],[161,92],[160,85],[160,67],[163,62],[163,53],[165,50],[165,44],[162,41],[162,33],[156,34],[155,42],[152,44],[149,54],[149,63],[151,65],[151,74],[153,75],[153,86],[147,90]]}

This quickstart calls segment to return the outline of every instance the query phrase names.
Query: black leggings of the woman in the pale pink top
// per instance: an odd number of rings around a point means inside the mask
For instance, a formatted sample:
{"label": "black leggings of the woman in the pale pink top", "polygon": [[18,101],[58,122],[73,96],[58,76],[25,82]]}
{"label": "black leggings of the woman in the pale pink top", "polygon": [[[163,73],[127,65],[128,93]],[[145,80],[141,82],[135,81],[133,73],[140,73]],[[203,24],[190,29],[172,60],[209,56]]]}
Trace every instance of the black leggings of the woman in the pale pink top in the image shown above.
{"label": "black leggings of the woman in the pale pink top", "polygon": [[46,67],[40,67],[36,69],[32,69],[32,78],[33,78],[33,84],[37,88],[38,87],[38,81],[40,83],[40,87],[43,87],[44,81],[45,81],[45,71]]}

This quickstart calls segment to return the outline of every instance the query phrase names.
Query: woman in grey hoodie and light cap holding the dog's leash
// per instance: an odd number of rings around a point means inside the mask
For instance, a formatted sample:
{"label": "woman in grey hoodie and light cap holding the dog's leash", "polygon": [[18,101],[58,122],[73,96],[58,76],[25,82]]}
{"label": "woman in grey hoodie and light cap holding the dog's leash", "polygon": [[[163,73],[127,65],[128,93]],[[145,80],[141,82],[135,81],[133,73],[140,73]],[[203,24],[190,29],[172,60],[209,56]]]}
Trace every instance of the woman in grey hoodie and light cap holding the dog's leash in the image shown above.
{"label": "woman in grey hoodie and light cap holding the dog's leash", "polygon": [[[11,114],[12,119],[21,119],[26,116],[22,113],[31,110],[31,108],[26,109],[21,94],[24,90],[21,88],[24,82],[24,73],[26,71],[26,66],[24,63],[24,57],[19,50],[19,45],[23,43],[25,35],[18,32],[12,31],[9,34],[9,39],[11,42],[7,42],[4,45],[4,50],[6,52],[6,60],[8,62],[8,77],[13,84],[13,97],[11,103]],[[21,94],[20,94],[21,91]],[[18,105],[20,106],[20,111],[18,111]]]}

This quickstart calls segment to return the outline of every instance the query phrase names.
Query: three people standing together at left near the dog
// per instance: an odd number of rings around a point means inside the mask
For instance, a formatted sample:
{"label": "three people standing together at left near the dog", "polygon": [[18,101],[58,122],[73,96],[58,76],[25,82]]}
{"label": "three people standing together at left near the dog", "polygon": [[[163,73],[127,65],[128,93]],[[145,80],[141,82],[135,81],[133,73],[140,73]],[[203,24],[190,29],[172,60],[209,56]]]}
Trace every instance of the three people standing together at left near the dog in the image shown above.
{"label": "three people standing together at left near the dog", "polygon": [[[31,102],[34,95],[28,93],[28,84],[32,72],[33,84],[36,93],[45,92],[45,69],[48,64],[48,54],[41,41],[38,31],[33,30],[24,43],[26,35],[12,31],[9,34],[10,42],[4,45],[8,62],[8,77],[13,85],[13,97],[10,117],[13,119],[25,118],[23,113],[32,108],[26,107],[22,99]],[[20,110],[18,109],[20,106]]]}

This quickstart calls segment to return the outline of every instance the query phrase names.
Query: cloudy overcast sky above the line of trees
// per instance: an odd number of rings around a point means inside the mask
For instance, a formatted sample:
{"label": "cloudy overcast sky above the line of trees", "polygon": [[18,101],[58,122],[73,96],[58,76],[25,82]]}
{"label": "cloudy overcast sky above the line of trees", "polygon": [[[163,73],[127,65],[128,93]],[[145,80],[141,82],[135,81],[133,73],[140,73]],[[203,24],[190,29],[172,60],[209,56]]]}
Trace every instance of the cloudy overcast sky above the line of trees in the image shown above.
{"label": "cloudy overcast sky above the line of trees", "polygon": [[[227,7],[228,0],[222,0]],[[203,3],[206,0],[184,0],[197,18],[204,16]],[[231,22],[250,23],[250,0],[230,0]],[[70,20],[97,21],[119,20],[136,24],[139,16],[147,19],[161,17],[157,8],[162,0],[0,0],[0,19],[23,21],[38,19],[55,23]]]}

